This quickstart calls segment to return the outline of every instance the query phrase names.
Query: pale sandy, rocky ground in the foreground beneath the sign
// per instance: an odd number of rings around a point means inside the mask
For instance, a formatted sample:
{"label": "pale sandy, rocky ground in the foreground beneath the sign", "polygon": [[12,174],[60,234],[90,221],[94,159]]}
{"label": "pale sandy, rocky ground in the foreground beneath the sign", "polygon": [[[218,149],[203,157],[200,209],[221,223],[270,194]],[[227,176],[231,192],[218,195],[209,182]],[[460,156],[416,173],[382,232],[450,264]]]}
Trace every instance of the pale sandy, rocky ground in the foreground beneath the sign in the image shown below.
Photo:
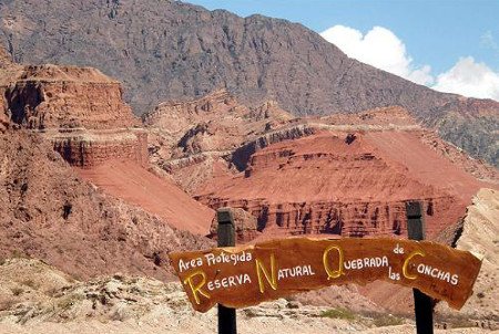
{"label": "pale sandy, rocky ground in the foreground beneath the sign", "polygon": [[[122,274],[78,281],[37,260],[9,259],[0,264],[0,331],[41,333],[204,333],[216,332],[216,311],[192,311],[177,283]],[[355,299],[355,298],[354,298]],[[358,298],[357,298],[358,300]],[[455,328],[436,333],[490,333]],[[457,323],[456,323],[457,325]],[[240,333],[414,333],[408,319],[377,312],[303,305],[277,300],[237,311]]]}

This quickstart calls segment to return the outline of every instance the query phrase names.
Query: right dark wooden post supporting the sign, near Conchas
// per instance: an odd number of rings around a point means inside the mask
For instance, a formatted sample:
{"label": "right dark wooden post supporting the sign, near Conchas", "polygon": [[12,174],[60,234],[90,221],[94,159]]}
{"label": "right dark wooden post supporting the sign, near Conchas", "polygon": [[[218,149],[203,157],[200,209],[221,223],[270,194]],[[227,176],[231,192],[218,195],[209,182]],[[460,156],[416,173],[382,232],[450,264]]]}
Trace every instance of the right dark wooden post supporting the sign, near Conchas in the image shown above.
{"label": "right dark wooden post supporting the sign, near Conchas", "polygon": [[[410,240],[425,239],[425,219],[422,203],[419,201],[406,202],[407,233]],[[434,304],[431,299],[417,289],[413,289],[414,309],[416,313],[416,332],[418,334],[434,333]]]}

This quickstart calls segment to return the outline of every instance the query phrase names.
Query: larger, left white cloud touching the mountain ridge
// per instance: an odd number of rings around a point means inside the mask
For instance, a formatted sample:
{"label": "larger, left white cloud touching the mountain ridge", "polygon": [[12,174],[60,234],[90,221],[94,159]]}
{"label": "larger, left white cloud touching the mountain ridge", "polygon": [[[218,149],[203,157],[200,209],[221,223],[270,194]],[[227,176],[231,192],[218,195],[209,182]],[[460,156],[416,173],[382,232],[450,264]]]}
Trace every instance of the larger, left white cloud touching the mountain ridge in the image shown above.
{"label": "larger, left white cloud touching the mountain ridge", "polygon": [[431,67],[417,67],[407,54],[406,45],[390,30],[374,27],[365,35],[356,29],[335,25],[320,33],[348,56],[366,64],[394,73],[419,84],[431,84]]}

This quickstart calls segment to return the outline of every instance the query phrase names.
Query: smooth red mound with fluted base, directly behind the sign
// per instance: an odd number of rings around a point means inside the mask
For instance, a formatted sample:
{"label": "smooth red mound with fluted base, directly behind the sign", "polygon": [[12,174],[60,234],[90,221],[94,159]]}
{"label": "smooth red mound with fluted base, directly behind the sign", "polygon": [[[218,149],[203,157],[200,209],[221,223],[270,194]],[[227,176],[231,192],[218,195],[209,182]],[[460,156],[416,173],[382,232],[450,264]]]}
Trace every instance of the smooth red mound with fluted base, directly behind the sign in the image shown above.
{"label": "smooth red mound with fluted base, directly behind the sign", "polygon": [[244,173],[214,180],[196,198],[244,208],[264,232],[346,237],[405,236],[405,201],[417,199],[436,236],[465,213],[479,185],[413,132],[327,132],[253,154]]}

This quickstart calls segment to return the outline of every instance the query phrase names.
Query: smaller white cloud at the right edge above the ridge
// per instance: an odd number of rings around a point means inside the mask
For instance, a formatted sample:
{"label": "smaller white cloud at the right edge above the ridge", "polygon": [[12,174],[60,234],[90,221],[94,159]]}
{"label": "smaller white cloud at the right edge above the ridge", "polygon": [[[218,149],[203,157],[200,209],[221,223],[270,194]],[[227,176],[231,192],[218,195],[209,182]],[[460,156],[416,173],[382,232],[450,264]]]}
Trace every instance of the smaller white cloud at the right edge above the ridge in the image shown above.
{"label": "smaller white cloud at the right edge above the ridge", "polygon": [[437,77],[434,90],[465,96],[499,101],[499,73],[472,56],[461,58],[449,71]]}

